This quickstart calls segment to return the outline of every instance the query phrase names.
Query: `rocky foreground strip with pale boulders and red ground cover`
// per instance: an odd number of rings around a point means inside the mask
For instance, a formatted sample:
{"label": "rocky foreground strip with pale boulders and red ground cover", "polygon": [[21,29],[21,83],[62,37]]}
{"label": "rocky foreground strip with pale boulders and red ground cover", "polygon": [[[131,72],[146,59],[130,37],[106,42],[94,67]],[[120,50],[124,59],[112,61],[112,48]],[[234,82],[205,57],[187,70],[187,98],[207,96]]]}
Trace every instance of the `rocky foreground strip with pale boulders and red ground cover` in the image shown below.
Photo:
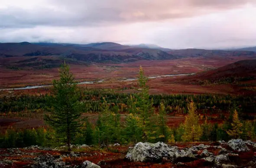
{"label": "rocky foreground strip with pale boulders and red ground cover", "polygon": [[191,167],[256,168],[256,143],[240,139],[227,143],[137,143],[114,144],[100,151],[93,146],[73,146],[75,152],[31,146],[0,149],[0,168],[106,168]]}

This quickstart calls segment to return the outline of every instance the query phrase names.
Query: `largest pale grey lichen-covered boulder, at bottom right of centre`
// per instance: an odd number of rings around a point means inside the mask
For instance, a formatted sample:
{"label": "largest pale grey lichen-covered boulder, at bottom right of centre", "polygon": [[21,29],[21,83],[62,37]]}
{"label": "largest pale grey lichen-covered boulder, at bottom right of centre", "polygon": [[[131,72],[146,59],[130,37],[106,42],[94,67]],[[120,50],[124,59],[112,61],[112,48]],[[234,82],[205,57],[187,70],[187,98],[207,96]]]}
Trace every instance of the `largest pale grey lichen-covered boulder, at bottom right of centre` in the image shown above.
{"label": "largest pale grey lichen-covered boulder, at bottom right of centre", "polygon": [[162,158],[174,160],[176,155],[181,154],[177,146],[169,146],[165,143],[137,143],[130,148],[126,159],[132,162],[157,162]]}

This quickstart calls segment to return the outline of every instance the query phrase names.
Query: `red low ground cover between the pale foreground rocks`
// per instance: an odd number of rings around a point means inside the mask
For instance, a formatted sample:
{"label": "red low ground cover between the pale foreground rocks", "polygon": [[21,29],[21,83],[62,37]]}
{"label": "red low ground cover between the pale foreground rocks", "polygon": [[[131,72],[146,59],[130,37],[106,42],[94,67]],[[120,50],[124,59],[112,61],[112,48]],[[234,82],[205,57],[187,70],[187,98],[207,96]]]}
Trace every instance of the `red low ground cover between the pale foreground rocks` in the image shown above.
{"label": "red low ground cover between the pale foreground rocks", "polygon": [[[175,143],[170,145],[176,145],[179,148],[191,147],[192,145],[216,145],[215,143],[210,142],[195,142],[195,143]],[[130,145],[133,146],[133,145]],[[223,146],[225,147],[225,146]],[[75,154],[80,156],[70,156],[68,157],[68,152],[53,151],[53,150],[39,150],[39,149],[14,149],[14,152],[11,154],[8,149],[0,149],[0,160],[8,159],[13,164],[6,165],[4,168],[23,168],[30,167],[33,164],[34,158],[44,155],[52,156],[62,156],[62,161],[66,165],[79,165],[85,160],[89,160],[96,164],[100,164],[101,168],[169,168],[169,167],[186,167],[186,168],[207,168],[210,166],[210,163],[205,162],[203,159],[198,159],[192,162],[183,162],[180,165],[173,164],[167,160],[163,160],[161,163],[153,162],[129,162],[125,159],[125,155],[128,151],[129,146],[113,146],[105,149],[97,149],[97,147],[87,147],[80,149],[73,149]],[[240,152],[239,156],[229,157],[231,162],[237,163],[237,165],[246,165],[253,157],[256,156],[255,149],[250,148],[250,152]],[[220,149],[210,147],[207,148],[209,152],[217,155]],[[198,151],[200,154],[201,151]],[[66,157],[63,157],[66,155]]]}

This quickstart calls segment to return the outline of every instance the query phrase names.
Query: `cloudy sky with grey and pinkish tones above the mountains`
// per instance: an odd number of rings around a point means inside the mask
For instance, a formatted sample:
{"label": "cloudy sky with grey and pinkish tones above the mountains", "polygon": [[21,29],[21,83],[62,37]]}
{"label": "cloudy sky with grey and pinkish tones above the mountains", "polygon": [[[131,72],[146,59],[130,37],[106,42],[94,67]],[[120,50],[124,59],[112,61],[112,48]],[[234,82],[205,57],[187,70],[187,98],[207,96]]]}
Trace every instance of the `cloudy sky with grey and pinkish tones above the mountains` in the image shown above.
{"label": "cloudy sky with grey and pinkish tones above the mountains", "polygon": [[256,46],[256,0],[0,0],[0,42]]}

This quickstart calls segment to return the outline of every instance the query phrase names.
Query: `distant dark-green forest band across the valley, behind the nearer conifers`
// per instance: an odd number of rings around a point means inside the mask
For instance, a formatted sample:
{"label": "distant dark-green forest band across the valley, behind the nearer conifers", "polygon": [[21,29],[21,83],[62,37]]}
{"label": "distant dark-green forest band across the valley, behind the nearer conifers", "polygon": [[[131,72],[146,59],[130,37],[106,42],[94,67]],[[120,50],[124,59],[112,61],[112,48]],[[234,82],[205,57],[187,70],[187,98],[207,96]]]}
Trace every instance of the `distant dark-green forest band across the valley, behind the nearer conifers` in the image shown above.
{"label": "distant dark-green forest band across the valley, behind the nearer conifers", "polygon": [[[102,112],[103,108],[101,105],[104,103],[104,100],[109,104],[117,105],[120,112],[128,112],[127,104],[129,103],[131,96],[134,97],[134,99],[137,99],[136,94],[114,93],[114,91],[110,89],[80,88],[78,100],[81,102],[83,112]],[[253,96],[156,94],[149,95],[149,99],[153,101],[153,106],[156,108],[160,106],[160,103],[162,102],[168,113],[178,112],[187,114],[189,100],[193,100],[197,109],[205,113],[214,114],[228,111],[233,104],[240,106],[242,113],[256,112],[256,98]],[[42,94],[40,96],[3,96],[0,98],[0,112],[35,112],[39,109],[47,112],[52,107],[51,100],[52,95],[50,94]]]}

